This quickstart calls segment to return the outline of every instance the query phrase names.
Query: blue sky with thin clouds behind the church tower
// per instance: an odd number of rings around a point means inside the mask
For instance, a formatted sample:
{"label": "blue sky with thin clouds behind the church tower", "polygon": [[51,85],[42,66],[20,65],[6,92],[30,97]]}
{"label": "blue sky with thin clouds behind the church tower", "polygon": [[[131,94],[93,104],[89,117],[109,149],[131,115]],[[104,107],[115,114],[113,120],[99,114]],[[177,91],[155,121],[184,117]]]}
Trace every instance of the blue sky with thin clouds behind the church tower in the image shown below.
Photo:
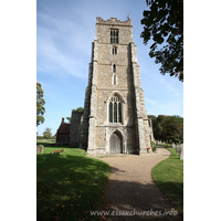
{"label": "blue sky with thin clouds behind the church tower", "polygon": [[92,42],[95,39],[96,17],[133,21],[137,45],[141,87],[147,114],[183,116],[183,83],[159,73],[159,65],[148,55],[140,33],[145,0],[38,0],[36,1],[36,81],[44,91],[44,124],[56,133],[62,117],[71,109],[84,106]]}

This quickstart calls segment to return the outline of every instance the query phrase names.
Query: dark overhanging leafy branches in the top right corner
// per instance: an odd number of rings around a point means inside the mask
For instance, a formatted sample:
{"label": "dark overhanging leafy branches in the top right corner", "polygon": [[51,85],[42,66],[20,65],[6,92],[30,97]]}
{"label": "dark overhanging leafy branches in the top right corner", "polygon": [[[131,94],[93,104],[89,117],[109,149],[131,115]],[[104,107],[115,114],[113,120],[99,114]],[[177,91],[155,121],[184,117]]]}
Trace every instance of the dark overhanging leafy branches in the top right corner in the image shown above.
{"label": "dark overhanging leafy branches in the top right corner", "polygon": [[[154,40],[149,56],[161,63],[160,73],[179,77],[183,82],[183,0],[146,0],[144,11],[144,43]],[[158,46],[160,46],[158,49]]]}

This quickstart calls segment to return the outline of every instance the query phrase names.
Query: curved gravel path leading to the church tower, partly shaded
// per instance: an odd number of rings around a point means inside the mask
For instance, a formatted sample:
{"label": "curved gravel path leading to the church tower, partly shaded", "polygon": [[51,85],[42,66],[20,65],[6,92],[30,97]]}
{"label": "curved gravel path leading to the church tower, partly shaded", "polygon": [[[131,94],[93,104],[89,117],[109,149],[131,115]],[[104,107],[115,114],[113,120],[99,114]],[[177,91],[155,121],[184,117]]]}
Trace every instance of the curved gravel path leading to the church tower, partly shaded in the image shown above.
{"label": "curved gravel path leading to the church tower, partly shaded", "polygon": [[[133,214],[108,215],[106,220],[182,220],[178,215],[154,214],[160,210],[168,212],[175,208],[151,179],[152,167],[169,156],[167,149],[158,147],[157,154],[148,156],[102,158],[110,166],[112,171],[107,186],[108,211]],[[136,214],[145,211],[146,215]]]}

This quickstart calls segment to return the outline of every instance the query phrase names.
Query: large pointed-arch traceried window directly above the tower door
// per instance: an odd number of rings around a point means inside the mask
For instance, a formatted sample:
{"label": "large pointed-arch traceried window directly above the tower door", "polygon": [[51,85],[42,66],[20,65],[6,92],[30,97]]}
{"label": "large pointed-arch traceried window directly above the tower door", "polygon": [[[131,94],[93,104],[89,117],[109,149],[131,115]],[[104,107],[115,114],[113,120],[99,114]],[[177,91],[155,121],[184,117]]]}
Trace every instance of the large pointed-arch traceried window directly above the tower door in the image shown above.
{"label": "large pointed-arch traceried window directly above the tower door", "polygon": [[116,94],[109,99],[109,123],[122,123],[122,99]]}

